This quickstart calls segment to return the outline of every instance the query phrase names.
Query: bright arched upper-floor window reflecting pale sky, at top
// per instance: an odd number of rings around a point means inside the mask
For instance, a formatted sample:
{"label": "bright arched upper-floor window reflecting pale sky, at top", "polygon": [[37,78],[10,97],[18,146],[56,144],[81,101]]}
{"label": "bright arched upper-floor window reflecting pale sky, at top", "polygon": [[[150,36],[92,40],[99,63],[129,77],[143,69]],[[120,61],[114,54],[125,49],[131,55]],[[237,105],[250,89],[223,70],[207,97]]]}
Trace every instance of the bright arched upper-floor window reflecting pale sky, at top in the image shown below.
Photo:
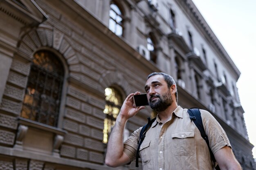
{"label": "bright arched upper-floor window reflecting pale sky, at top", "polygon": [[124,32],[124,17],[121,10],[114,2],[110,4],[109,25],[108,28],[117,36],[123,36]]}

